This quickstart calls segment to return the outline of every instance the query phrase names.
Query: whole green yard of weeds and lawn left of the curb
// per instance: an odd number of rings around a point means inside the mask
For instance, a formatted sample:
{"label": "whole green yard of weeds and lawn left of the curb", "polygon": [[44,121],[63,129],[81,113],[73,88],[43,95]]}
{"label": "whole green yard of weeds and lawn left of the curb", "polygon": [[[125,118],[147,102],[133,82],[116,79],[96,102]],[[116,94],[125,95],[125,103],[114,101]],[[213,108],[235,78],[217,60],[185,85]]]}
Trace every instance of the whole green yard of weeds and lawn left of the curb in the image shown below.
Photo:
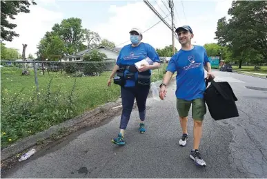
{"label": "whole green yard of weeds and lawn left of the curb", "polygon": [[16,67],[1,68],[1,147],[117,100],[119,86],[107,86],[109,75],[71,77],[50,72],[38,76],[37,93],[33,75],[21,76]]}

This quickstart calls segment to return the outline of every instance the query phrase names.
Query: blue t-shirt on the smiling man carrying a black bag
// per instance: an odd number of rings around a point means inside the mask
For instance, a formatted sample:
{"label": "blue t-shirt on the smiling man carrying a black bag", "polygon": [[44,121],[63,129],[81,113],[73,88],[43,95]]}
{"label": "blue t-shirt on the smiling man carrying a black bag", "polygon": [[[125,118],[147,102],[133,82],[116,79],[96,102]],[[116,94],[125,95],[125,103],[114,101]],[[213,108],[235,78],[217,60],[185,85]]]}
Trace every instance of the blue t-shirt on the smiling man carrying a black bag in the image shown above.
{"label": "blue t-shirt on the smiling man carrying a black bag", "polygon": [[175,95],[182,100],[195,100],[204,97],[206,89],[204,66],[210,62],[203,46],[191,50],[179,50],[172,56],[167,71],[177,72]]}

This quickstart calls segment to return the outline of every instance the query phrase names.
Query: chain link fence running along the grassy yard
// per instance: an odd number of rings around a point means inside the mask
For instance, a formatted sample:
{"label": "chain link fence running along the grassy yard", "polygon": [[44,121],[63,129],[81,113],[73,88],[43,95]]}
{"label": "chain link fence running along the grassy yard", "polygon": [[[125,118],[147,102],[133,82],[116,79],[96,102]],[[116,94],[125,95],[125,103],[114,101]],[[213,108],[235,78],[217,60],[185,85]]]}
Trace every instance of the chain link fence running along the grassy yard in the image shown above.
{"label": "chain link fence running along the grassy yard", "polygon": [[[107,86],[115,64],[1,61],[1,146],[117,100],[119,86]],[[152,81],[165,68],[152,70]]]}

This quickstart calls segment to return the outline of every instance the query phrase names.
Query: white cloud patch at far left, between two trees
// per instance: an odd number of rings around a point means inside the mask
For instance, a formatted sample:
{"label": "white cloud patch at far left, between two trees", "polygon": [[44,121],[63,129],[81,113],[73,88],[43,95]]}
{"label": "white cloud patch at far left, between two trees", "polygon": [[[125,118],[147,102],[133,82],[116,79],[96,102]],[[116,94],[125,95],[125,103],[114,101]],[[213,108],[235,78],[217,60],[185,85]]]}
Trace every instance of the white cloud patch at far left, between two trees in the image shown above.
{"label": "white cloud patch at far left, between two trees", "polygon": [[19,37],[15,37],[12,42],[5,41],[4,43],[8,47],[19,49],[19,53],[22,53],[22,44],[28,44],[26,57],[29,53],[36,57],[34,53],[37,52],[37,44],[46,31],[50,31],[52,26],[59,23],[61,19],[63,19],[61,12],[54,12],[41,6],[30,6],[30,13],[21,13],[16,19],[10,20],[17,24],[14,31],[19,34]]}

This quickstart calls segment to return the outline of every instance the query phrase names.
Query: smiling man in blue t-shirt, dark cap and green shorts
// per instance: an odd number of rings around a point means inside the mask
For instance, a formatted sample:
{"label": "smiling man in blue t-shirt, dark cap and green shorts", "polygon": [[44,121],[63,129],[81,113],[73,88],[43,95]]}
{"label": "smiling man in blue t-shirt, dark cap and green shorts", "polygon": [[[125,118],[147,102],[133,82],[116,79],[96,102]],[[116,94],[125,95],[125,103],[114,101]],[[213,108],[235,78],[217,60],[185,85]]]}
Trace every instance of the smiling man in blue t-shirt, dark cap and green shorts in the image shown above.
{"label": "smiling man in blue t-shirt, dark cap and green shorts", "polygon": [[204,102],[204,91],[206,89],[204,79],[204,68],[208,71],[208,77],[213,77],[211,73],[210,61],[203,46],[193,46],[191,39],[194,37],[190,26],[181,26],[175,31],[179,37],[181,49],[172,56],[164,80],[160,85],[160,97],[164,100],[173,73],[177,72],[175,95],[177,97],[177,111],[179,113],[181,129],[183,135],[179,140],[180,146],[186,146],[188,140],[187,122],[188,112],[192,104],[192,118],[194,120],[194,144],[190,152],[190,158],[197,165],[206,166],[206,162],[199,153],[199,143],[202,133],[202,122],[206,114],[206,104]]}

